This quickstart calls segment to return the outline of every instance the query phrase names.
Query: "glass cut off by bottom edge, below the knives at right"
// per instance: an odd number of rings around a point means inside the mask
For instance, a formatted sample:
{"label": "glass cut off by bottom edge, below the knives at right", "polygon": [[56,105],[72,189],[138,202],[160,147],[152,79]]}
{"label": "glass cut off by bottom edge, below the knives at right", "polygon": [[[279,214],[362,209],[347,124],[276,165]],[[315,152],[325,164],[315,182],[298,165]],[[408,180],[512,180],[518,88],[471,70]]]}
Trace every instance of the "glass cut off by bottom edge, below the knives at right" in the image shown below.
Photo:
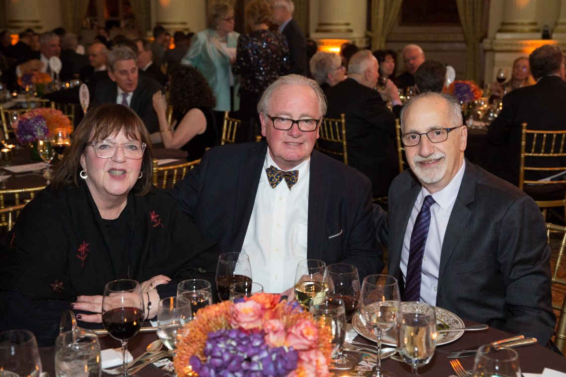
{"label": "glass cut off by bottom edge, below the knives at right", "polygon": [[512,348],[501,348],[487,352],[488,345],[482,345],[475,354],[474,377],[515,377],[521,375],[519,356]]}

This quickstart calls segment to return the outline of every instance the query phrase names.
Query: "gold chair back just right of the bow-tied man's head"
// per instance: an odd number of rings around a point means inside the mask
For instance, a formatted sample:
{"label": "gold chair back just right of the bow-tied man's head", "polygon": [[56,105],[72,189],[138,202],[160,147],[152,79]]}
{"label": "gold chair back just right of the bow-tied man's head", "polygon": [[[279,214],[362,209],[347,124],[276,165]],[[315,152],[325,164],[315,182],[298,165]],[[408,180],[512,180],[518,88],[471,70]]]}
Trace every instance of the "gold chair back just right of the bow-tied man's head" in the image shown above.
{"label": "gold chair back just right of the bow-tied man's head", "polygon": [[320,121],[319,138],[315,148],[324,154],[340,156],[342,162],[348,165],[345,114],[340,114],[340,119],[323,118]]}

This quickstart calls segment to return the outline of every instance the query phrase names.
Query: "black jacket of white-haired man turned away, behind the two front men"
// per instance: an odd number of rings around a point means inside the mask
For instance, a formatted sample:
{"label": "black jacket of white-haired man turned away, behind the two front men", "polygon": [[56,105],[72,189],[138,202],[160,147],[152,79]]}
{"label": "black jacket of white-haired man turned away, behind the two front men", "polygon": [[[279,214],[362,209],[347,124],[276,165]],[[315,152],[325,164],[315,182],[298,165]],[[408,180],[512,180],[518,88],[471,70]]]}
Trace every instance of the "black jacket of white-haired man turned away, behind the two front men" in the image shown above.
{"label": "black jacket of white-haired man turned away, behind the two front men", "polygon": [[385,196],[398,173],[395,115],[375,90],[346,79],[326,92],[327,116],[346,114],[348,164],[368,176],[374,196]]}

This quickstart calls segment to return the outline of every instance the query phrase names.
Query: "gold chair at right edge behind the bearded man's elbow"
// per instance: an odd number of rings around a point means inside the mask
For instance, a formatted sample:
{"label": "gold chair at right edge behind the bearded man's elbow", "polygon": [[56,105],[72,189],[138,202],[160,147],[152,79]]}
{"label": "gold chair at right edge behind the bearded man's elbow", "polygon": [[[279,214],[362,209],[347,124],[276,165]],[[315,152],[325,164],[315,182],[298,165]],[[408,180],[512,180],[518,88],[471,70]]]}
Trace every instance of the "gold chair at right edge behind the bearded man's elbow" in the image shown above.
{"label": "gold chair at right edge behind the bearded man's elbow", "polygon": [[[558,255],[556,255],[556,262],[554,263],[554,269],[552,270],[552,284],[559,284],[566,286],[566,279],[560,278],[564,276],[564,273],[560,274],[560,265],[562,259],[566,255],[566,227],[546,223],[546,235],[548,236],[548,244],[550,245],[550,234],[551,232],[561,233],[560,249],[558,250]],[[566,354],[566,296],[563,297],[562,302],[552,302],[552,308],[555,310],[560,310],[558,316],[558,324],[556,325],[556,330],[554,332],[554,344],[560,352]]]}

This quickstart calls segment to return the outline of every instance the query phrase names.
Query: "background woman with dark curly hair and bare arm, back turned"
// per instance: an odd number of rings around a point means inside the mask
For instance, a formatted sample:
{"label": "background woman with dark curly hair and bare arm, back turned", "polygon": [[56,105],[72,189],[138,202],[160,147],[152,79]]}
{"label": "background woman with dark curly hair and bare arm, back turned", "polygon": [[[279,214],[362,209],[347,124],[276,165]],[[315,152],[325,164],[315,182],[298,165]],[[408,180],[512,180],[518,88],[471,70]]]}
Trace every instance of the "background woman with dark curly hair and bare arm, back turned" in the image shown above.
{"label": "background woman with dark curly hair and bare arm, back turned", "polygon": [[199,159],[206,148],[216,145],[216,125],[212,108],[216,99],[204,76],[193,67],[177,68],[171,76],[169,93],[173,124],[167,122],[167,102],[161,92],[153,94],[161,140],[165,148],[186,150],[188,161]]}

